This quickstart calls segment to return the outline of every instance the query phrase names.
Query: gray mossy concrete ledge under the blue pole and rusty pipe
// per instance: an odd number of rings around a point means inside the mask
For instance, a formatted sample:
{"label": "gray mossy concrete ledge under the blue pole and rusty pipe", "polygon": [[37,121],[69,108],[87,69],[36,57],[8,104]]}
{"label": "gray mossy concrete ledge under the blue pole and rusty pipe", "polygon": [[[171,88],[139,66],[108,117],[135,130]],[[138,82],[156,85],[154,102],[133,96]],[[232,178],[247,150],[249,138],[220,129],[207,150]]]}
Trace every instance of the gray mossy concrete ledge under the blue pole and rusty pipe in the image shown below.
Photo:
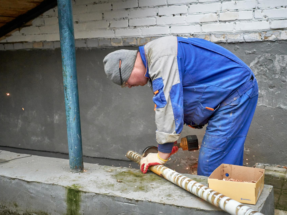
{"label": "gray mossy concrete ledge under the blue pole and rusty pipe", "polygon": [[[70,173],[66,159],[26,156],[0,153],[0,215],[227,214],[152,172],[85,163],[86,172]],[[274,214],[273,187],[248,206]]]}

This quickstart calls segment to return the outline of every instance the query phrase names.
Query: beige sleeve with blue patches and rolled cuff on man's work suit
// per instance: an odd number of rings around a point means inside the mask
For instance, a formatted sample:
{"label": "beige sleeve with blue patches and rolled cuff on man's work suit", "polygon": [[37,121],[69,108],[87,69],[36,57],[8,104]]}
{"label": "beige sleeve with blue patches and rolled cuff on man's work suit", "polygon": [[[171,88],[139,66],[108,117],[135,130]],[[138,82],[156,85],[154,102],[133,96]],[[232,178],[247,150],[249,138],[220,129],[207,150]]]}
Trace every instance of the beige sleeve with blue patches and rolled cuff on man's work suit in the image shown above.
{"label": "beige sleeve with blue patches and rolled cuff on man's work suit", "polygon": [[[152,43],[153,42],[153,43]],[[182,85],[178,73],[177,39],[162,37],[145,46],[149,76],[155,93],[156,140],[159,144],[175,142],[183,125]],[[176,112],[176,113],[175,113]]]}

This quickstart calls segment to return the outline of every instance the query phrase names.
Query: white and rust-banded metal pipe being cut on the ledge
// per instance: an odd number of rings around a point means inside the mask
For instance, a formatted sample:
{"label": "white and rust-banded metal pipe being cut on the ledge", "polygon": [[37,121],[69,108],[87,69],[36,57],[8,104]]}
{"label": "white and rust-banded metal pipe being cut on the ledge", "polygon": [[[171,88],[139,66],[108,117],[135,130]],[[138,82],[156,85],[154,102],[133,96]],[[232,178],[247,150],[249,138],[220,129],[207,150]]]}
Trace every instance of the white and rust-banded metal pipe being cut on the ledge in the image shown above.
{"label": "white and rust-banded metal pipe being cut on the ledge", "polygon": [[[140,163],[142,156],[134,151],[128,151],[126,157],[136,163]],[[177,173],[170,168],[163,165],[156,165],[149,167],[149,170],[158,174],[159,176],[169,180],[170,182],[180,186],[188,192],[198,196],[199,198],[221,208],[232,215],[263,215],[262,213],[243,205],[229,197],[216,192],[207,186],[204,186],[186,176]]]}

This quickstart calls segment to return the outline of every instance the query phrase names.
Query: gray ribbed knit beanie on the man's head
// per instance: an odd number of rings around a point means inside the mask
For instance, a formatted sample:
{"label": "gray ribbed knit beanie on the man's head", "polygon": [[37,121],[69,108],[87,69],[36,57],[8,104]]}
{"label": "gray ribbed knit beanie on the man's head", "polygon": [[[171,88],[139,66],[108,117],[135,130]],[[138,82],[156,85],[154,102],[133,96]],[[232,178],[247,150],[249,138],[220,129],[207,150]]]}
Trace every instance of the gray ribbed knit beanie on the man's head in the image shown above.
{"label": "gray ribbed knit beanie on the man's head", "polygon": [[121,49],[109,53],[103,60],[105,73],[108,76],[108,78],[112,80],[112,82],[114,82],[115,84],[121,85],[120,83],[120,73],[121,73],[122,83],[126,82],[132,73],[132,69],[134,68],[137,53],[138,53],[137,50],[126,50],[126,49]]}

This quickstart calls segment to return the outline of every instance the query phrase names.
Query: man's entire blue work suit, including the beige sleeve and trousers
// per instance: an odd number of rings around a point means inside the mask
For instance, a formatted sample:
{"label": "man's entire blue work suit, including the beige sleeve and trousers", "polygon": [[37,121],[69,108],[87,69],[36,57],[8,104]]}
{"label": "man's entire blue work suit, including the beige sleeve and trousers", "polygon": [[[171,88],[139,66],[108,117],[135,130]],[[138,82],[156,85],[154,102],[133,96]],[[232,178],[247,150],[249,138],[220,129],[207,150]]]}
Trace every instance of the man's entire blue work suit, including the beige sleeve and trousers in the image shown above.
{"label": "man's entire blue work suit, including the beige sleeve and trousers", "polygon": [[158,150],[170,153],[184,124],[203,128],[198,175],[243,164],[258,99],[251,69],[225,48],[198,38],[163,37],[139,47],[152,81]]}

